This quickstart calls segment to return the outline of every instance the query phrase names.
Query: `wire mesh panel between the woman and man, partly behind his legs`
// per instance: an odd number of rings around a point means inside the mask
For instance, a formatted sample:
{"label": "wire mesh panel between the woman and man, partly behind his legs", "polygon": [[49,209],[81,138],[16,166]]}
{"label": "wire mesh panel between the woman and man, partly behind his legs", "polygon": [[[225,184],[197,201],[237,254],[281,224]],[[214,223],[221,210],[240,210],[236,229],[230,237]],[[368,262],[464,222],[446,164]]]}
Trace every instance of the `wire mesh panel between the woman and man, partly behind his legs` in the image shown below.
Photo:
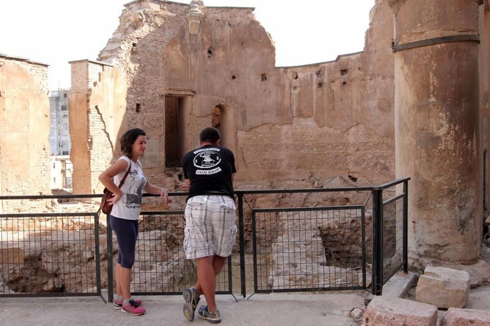
{"label": "wire mesh panel between the woman and man, partly behind his legs", "polygon": [[[185,259],[184,212],[141,212],[131,291],[137,295],[181,294],[196,284],[196,260]],[[231,294],[231,260],[216,279],[216,293]]]}

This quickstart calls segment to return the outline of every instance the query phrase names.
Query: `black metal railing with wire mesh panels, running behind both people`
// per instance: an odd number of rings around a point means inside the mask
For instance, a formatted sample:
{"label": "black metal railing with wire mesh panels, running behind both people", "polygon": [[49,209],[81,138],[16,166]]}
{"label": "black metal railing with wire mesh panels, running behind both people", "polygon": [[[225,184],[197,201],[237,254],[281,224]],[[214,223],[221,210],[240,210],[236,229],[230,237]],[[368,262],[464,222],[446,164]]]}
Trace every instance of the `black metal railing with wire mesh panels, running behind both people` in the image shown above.
{"label": "black metal railing with wire mesh panels, running behind both people", "polygon": [[[218,275],[217,292],[233,294],[233,285],[239,284],[244,297],[252,291],[368,289],[381,294],[394,273],[408,269],[409,179],[366,187],[236,191],[239,245]],[[398,194],[393,190],[396,185],[403,186]],[[290,207],[288,200],[273,207],[260,204],[273,202],[261,200],[265,196],[298,194],[315,194],[318,200],[309,204],[306,197],[299,204],[291,200],[296,207]],[[365,196],[349,205],[322,204],[332,194]],[[57,199],[66,204],[75,198],[99,197],[0,196],[0,200],[25,204]],[[94,295],[112,301],[117,242],[105,216],[100,219],[95,212],[0,214],[0,297]],[[184,257],[184,226],[183,207],[142,211],[131,283],[134,294],[179,294],[196,282],[196,261]],[[105,232],[99,234],[99,228]],[[232,261],[237,261],[236,267]],[[102,288],[108,290],[108,298]]]}

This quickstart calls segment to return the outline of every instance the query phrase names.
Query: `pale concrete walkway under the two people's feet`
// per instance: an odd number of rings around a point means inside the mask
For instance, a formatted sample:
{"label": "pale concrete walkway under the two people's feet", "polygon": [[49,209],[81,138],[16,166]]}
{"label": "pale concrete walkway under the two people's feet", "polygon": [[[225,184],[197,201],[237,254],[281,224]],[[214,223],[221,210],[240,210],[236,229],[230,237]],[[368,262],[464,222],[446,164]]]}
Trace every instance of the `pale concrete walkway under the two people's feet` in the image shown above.
{"label": "pale concrete walkway under the two people's feet", "polygon": [[[355,326],[350,311],[364,307],[368,292],[255,294],[247,299],[217,296],[221,325]],[[209,325],[182,314],[181,296],[146,296],[147,313],[131,316],[93,298],[0,298],[0,325]],[[205,302],[204,300],[202,300]]]}

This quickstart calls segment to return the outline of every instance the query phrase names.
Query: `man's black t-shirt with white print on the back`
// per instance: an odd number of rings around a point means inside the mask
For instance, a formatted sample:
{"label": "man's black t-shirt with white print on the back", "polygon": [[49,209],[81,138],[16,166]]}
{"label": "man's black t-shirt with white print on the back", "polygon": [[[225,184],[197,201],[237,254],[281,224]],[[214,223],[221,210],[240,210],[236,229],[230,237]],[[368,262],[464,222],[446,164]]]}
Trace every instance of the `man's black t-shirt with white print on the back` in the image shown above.
{"label": "man's black t-shirt with white print on the back", "polygon": [[200,195],[234,198],[231,174],[236,173],[233,152],[221,146],[204,145],[182,158],[184,178],[190,179],[187,199]]}

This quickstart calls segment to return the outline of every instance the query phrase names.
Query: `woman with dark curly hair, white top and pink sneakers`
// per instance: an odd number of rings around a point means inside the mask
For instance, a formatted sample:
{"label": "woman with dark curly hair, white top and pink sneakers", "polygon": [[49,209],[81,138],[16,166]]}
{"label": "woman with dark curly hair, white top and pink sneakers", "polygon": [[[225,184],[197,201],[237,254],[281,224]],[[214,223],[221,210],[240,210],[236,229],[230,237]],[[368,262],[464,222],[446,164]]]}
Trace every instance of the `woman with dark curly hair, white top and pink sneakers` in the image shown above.
{"label": "woman with dark curly hair, white top and pink sneakers", "polygon": [[[113,193],[108,200],[112,205],[109,215],[111,224],[119,244],[118,263],[116,265],[117,297],[114,308],[131,315],[142,315],[145,308],[142,301],[131,298],[131,268],[134,264],[136,238],[138,237],[138,218],[141,212],[143,190],[148,194],[160,195],[168,204],[169,195],[166,188],[157,187],[147,182],[138,158],[145,153],[147,138],[144,130],[135,128],[124,132],[120,139],[121,156],[116,163],[102,172],[98,179]],[[129,170],[121,189],[118,185]]]}

